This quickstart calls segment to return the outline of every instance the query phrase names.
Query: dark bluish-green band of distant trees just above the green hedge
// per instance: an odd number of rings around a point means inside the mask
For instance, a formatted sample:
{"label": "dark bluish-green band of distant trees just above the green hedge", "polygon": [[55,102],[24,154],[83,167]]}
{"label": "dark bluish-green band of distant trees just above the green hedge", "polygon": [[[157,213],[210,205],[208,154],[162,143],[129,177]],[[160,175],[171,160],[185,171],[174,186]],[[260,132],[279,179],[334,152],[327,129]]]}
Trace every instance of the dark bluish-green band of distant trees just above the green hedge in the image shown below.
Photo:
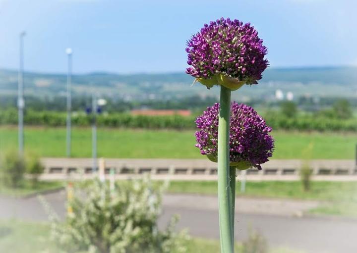
{"label": "dark bluish-green band of distant trees just above the green hedge", "polygon": [[[86,107],[91,106],[91,97],[76,96],[72,98],[72,110],[73,111],[85,111]],[[105,111],[112,112],[127,112],[132,109],[189,109],[192,111],[202,111],[208,106],[212,106],[215,102],[218,102],[216,96],[188,96],[183,98],[171,98],[171,99],[154,99],[154,100],[131,100],[127,101],[120,98],[104,97],[107,104],[105,105]],[[237,101],[237,100],[236,100]],[[320,111],[325,108],[334,106],[338,101],[344,101],[348,103],[348,106],[357,106],[357,98],[341,99],[338,97],[328,98],[315,98],[310,96],[297,97],[294,103],[302,111]],[[237,101],[241,102],[241,101]],[[266,101],[261,99],[251,99],[244,103],[249,106],[264,107],[264,108],[277,108],[285,106],[286,101]],[[289,102],[288,102],[289,103]],[[16,108],[17,97],[0,95],[0,108]],[[66,99],[63,96],[49,96],[49,97],[25,97],[26,109],[34,111],[65,111]]]}

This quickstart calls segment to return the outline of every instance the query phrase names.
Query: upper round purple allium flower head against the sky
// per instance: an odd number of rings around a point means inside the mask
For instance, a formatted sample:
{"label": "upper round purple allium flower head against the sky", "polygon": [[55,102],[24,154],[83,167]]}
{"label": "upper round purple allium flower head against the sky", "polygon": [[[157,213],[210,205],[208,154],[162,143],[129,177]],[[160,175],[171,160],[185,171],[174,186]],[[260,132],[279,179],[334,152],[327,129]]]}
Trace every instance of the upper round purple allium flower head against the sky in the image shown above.
{"label": "upper round purple allium flower head against the sky", "polygon": [[192,67],[186,73],[200,82],[203,79],[208,88],[221,84],[220,76],[232,78],[241,85],[257,84],[269,64],[264,59],[267,48],[257,31],[237,19],[221,18],[205,24],[187,46],[187,63]]}

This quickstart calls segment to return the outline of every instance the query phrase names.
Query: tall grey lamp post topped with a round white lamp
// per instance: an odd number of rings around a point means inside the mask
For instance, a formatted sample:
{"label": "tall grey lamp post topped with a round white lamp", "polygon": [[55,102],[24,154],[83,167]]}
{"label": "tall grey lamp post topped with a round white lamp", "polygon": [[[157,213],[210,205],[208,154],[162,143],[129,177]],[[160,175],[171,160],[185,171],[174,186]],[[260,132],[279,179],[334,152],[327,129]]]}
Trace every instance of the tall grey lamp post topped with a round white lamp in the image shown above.
{"label": "tall grey lamp post topped with a round white lamp", "polygon": [[71,84],[72,84],[72,49],[67,48],[68,56],[67,68],[67,119],[66,119],[66,153],[67,157],[71,156]]}

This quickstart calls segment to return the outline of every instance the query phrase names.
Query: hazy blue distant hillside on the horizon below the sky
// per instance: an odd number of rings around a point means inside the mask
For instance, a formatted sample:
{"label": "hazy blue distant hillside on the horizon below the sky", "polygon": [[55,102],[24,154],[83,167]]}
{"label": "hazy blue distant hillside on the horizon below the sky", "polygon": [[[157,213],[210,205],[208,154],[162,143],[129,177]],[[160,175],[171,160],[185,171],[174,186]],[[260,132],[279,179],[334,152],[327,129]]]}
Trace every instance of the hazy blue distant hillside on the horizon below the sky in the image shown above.
{"label": "hazy blue distant hillside on the horizon below the sky", "polygon": [[[131,99],[171,99],[199,94],[217,95],[219,89],[206,90],[203,86],[190,85],[193,78],[185,73],[130,74],[106,72],[76,74],[72,77],[74,96],[88,96],[92,92],[111,97]],[[38,96],[64,95],[65,74],[25,72],[25,94]],[[284,93],[292,91],[296,96],[341,96],[357,97],[357,68],[268,68],[259,85],[244,86],[233,93],[239,99],[267,99],[277,89]],[[0,94],[15,95],[17,71],[0,70]]]}

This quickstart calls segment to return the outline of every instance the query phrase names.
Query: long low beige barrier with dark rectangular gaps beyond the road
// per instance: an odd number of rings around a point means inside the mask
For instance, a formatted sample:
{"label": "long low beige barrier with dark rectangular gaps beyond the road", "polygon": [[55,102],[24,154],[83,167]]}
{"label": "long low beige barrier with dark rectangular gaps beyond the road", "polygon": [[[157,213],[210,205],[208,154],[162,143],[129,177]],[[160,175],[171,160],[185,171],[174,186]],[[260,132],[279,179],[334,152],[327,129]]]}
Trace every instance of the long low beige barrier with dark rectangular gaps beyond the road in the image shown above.
{"label": "long low beige barrier with dark rectangular gaps beyond the road", "polygon": [[[42,158],[42,179],[87,179],[96,175],[91,158]],[[304,161],[271,160],[263,170],[246,171],[247,180],[298,180]],[[310,160],[314,180],[357,180],[354,160]],[[138,177],[150,173],[152,179],[216,180],[217,164],[208,159],[105,159],[105,174],[114,170],[116,179]],[[237,171],[238,176],[241,173]]]}

